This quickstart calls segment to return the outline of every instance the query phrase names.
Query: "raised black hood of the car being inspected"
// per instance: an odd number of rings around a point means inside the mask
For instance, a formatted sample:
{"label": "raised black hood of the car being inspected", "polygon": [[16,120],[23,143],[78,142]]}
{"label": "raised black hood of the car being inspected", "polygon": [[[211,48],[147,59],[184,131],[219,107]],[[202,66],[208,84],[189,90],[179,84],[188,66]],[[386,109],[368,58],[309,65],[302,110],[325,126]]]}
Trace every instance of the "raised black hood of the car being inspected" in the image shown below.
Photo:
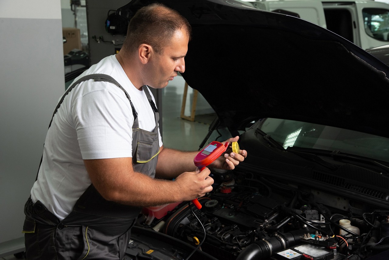
{"label": "raised black hood of the car being inspected", "polygon": [[[135,0],[117,12],[131,18]],[[160,0],[191,23],[182,74],[231,131],[282,118],[389,137],[389,67],[310,22],[233,0]]]}

